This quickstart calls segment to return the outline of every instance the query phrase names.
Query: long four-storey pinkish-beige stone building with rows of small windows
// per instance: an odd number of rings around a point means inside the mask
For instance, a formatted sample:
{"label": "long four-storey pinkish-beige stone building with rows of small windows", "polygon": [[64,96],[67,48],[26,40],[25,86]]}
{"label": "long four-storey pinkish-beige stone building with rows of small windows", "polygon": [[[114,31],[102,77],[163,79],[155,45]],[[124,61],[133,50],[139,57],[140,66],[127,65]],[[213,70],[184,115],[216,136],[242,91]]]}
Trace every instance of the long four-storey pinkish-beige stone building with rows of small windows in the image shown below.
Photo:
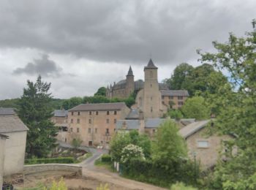
{"label": "long four-storey pinkish-beige stone building with rows of small windows", "polygon": [[108,148],[116,130],[116,121],[129,114],[124,102],[80,104],[68,111],[68,142],[75,138],[83,140],[82,145],[102,145]]}

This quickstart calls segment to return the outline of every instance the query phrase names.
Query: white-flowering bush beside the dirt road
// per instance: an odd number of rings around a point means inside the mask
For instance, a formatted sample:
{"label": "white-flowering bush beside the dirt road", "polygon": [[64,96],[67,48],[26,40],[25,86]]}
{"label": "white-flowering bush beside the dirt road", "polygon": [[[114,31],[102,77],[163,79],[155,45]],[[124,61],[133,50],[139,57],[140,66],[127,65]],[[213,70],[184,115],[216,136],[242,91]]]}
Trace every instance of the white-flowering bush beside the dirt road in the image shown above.
{"label": "white-flowering bush beside the dirt road", "polygon": [[145,159],[143,149],[138,145],[129,144],[121,151],[121,162],[127,163],[130,159]]}

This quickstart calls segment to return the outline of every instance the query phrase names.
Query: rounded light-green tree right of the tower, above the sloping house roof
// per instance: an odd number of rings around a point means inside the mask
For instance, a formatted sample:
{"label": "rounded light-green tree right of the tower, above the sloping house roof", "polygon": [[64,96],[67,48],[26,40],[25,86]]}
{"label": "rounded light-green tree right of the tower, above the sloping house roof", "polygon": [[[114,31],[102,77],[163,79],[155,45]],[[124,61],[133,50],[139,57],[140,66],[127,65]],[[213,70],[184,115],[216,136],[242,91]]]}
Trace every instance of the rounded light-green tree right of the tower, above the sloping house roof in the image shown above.
{"label": "rounded light-green tree right of the tower, above the sloping house roof", "polygon": [[181,111],[184,118],[195,118],[197,120],[210,118],[211,115],[211,110],[202,96],[186,99]]}

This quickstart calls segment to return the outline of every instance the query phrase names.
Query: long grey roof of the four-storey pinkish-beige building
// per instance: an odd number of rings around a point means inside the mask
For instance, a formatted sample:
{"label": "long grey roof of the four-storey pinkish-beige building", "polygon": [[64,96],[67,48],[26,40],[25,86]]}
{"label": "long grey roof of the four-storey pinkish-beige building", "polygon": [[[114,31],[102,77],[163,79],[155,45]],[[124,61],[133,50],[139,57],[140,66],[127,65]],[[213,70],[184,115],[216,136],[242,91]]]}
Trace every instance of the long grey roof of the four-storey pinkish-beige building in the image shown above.
{"label": "long grey roof of the four-storey pinkish-beige building", "polygon": [[97,111],[97,110],[121,110],[126,107],[124,102],[100,103],[100,104],[79,104],[69,111]]}

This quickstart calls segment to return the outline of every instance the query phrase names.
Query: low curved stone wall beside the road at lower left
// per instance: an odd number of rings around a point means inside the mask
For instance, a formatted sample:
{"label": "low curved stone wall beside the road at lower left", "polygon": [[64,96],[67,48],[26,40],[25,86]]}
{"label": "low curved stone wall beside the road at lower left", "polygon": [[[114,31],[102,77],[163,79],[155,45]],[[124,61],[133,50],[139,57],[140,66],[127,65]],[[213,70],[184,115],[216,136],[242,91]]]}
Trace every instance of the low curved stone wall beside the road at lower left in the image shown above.
{"label": "low curved stone wall beside the road at lower left", "polygon": [[24,175],[37,173],[37,172],[47,172],[47,171],[67,171],[75,172],[78,175],[82,174],[82,167],[78,165],[71,164],[34,164],[24,166]]}

